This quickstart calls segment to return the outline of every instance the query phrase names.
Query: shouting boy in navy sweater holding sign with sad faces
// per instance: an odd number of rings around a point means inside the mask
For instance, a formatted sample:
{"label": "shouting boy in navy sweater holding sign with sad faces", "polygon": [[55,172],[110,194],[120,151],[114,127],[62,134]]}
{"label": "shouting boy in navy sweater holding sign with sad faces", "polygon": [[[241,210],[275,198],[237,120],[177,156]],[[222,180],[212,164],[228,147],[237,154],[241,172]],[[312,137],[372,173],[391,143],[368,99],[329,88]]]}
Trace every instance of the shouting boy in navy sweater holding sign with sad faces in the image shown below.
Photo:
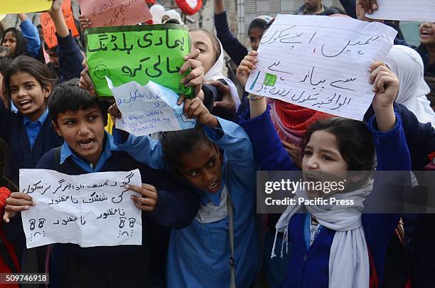
{"label": "shouting boy in navy sweater holding sign with sad faces", "polygon": [[[127,188],[140,195],[134,196],[132,201],[144,211],[144,241],[141,246],[87,248],[55,244],[48,249],[52,251],[50,254],[38,252],[38,255],[50,256],[43,257],[45,263],[40,261],[38,271],[33,272],[50,272],[50,287],[149,287],[146,234],[152,231],[146,228],[146,218],[159,225],[183,228],[196,215],[197,196],[167,171],[151,169],[119,151],[113,144],[112,136],[104,132],[107,112],[97,97],[78,87],[78,80],[59,85],[51,95],[48,107],[53,127],[65,143],[48,151],[36,168],[69,175],[139,168],[144,184]],[[35,205],[38,203],[31,196],[12,193],[6,200],[5,222],[9,225],[20,223],[19,217],[11,221],[9,218]],[[45,248],[40,247],[39,250]]]}

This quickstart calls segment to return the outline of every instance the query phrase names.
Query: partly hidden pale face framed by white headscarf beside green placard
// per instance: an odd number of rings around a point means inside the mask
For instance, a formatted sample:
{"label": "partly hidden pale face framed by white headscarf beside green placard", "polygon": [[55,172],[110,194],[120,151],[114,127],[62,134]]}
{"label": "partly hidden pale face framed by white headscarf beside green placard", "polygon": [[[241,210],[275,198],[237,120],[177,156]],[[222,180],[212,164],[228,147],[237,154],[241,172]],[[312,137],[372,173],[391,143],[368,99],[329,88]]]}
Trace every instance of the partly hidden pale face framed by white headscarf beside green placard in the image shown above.
{"label": "partly hidden pale face framed by white headscarf beside green placard", "polygon": [[190,38],[192,38],[192,49],[200,50],[198,60],[201,61],[204,68],[204,74],[215,65],[215,48],[210,37],[203,31],[190,32]]}

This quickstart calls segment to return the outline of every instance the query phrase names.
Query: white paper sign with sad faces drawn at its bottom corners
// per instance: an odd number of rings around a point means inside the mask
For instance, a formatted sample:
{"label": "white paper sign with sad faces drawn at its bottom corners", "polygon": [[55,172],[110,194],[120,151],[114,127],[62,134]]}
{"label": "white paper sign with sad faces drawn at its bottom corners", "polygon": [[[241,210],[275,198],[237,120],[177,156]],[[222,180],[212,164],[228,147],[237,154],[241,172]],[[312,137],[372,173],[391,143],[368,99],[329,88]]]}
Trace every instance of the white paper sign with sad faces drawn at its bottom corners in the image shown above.
{"label": "white paper sign with sad faces drawn at its bottom corners", "polygon": [[20,169],[20,191],[36,206],[21,213],[27,247],[74,243],[80,247],[141,245],[141,210],[124,186],[141,186],[139,170],[69,176]]}

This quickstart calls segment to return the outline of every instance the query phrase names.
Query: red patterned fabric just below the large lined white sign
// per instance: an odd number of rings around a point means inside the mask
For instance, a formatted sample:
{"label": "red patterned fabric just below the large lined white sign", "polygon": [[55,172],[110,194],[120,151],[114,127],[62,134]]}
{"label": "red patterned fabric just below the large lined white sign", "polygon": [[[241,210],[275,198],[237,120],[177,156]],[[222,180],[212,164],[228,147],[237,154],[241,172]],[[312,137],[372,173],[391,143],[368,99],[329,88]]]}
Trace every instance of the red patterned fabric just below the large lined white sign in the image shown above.
{"label": "red patterned fabric just below the large lined white sign", "polygon": [[[274,106],[276,117],[281,120],[281,123],[286,129],[285,132],[282,131],[275,122],[276,131],[278,132],[279,137],[286,142],[289,142],[289,139],[286,139],[288,138],[285,135],[286,133],[290,133],[294,137],[301,139],[308,127],[310,127],[310,125],[316,122],[318,119],[336,117],[331,114],[311,110],[309,108],[294,105],[281,100],[274,100]],[[294,144],[299,145],[299,143]]]}

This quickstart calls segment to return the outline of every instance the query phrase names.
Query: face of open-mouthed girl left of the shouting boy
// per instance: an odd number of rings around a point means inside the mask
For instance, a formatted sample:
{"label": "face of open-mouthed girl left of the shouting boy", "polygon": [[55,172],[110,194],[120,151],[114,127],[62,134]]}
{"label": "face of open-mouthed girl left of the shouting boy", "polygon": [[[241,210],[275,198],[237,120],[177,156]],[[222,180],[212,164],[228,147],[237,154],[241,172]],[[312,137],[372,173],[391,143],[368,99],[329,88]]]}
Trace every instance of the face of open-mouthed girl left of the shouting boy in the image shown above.
{"label": "face of open-mouthed girl left of the shouting boy", "polygon": [[19,112],[32,121],[38,120],[45,112],[45,102],[51,86],[42,87],[38,80],[26,72],[18,72],[9,80],[11,100]]}

